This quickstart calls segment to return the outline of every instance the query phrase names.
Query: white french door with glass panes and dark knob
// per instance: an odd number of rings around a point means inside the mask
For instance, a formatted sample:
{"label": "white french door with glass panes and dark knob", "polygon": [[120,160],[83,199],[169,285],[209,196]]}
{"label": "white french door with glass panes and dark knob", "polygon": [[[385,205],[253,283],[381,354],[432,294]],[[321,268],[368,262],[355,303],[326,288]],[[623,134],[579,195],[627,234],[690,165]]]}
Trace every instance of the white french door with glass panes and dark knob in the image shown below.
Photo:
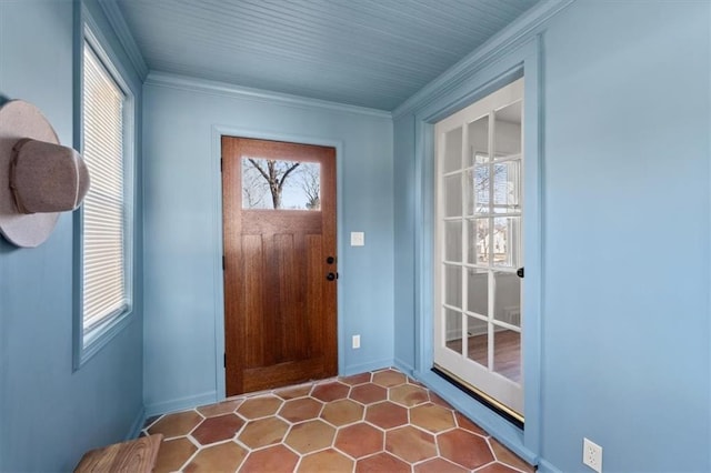
{"label": "white french door with glass panes and dark knob", "polygon": [[435,365],[521,420],[522,109],[520,79],[435,125],[434,323]]}

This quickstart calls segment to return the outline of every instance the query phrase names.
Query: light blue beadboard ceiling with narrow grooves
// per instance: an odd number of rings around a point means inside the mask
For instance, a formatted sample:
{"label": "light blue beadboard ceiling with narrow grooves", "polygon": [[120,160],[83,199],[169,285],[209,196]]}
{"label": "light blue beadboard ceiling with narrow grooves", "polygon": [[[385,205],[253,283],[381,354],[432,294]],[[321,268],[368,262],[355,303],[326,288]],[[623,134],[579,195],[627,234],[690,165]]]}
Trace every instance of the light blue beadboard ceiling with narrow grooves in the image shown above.
{"label": "light blue beadboard ceiling with narrow grooves", "polygon": [[538,0],[114,0],[152,71],[393,110]]}

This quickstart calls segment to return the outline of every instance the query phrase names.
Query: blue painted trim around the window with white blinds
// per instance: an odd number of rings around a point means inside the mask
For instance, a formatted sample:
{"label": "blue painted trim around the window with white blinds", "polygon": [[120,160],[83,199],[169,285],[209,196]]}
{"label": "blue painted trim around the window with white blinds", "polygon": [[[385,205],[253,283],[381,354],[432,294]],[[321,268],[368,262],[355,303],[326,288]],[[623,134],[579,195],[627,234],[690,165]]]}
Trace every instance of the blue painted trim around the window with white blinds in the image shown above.
{"label": "blue painted trim around the window with white blinds", "polygon": [[74,212],[74,303],[73,303],[73,369],[74,371],[83,366],[94,354],[106,346],[116,335],[118,335],[133,319],[134,314],[134,239],[136,239],[136,98],[128,85],[126,72],[120,69],[121,62],[117,54],[109,47],[109,41],[101,33],[91,14],[83,4],[80,9],[80,24],[82,28],[76,38],[76,109],[74,109],[74,144],[83,150],[83,48],[84,43],[91,47],[106,70],[109,72],[116,84],[124,94],[123,102],[123,159],[124,159],[124,202],[126,214],[126,292],[128,305],[121,312],[110,315],[103,323],[94,326],[90,332],[84,333],[83,321],[83,210],[80,208]]}

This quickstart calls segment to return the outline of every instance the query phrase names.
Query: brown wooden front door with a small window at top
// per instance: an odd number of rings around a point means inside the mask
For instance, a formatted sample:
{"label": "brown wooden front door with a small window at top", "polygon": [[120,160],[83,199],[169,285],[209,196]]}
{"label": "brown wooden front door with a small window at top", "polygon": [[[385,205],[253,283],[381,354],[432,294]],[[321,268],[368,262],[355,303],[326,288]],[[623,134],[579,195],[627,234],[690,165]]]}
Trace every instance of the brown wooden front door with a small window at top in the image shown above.
{"label": "brown wooden front door with a small window at top", "polygon": [[336,150],[222,137],[227,395],[338,371]]}

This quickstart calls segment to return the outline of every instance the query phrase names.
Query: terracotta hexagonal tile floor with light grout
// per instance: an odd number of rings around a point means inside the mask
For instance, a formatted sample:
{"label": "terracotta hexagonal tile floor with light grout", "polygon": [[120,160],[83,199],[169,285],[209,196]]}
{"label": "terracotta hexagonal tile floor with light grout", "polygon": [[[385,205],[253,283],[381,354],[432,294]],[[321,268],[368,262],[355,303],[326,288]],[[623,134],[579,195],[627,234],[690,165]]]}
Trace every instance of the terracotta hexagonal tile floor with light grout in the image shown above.
{"label": "terracotta hexagonal tile floor with light grout", "polygon": [[449,404],[388,369],[149,419],[156,472],[533,472]]}

